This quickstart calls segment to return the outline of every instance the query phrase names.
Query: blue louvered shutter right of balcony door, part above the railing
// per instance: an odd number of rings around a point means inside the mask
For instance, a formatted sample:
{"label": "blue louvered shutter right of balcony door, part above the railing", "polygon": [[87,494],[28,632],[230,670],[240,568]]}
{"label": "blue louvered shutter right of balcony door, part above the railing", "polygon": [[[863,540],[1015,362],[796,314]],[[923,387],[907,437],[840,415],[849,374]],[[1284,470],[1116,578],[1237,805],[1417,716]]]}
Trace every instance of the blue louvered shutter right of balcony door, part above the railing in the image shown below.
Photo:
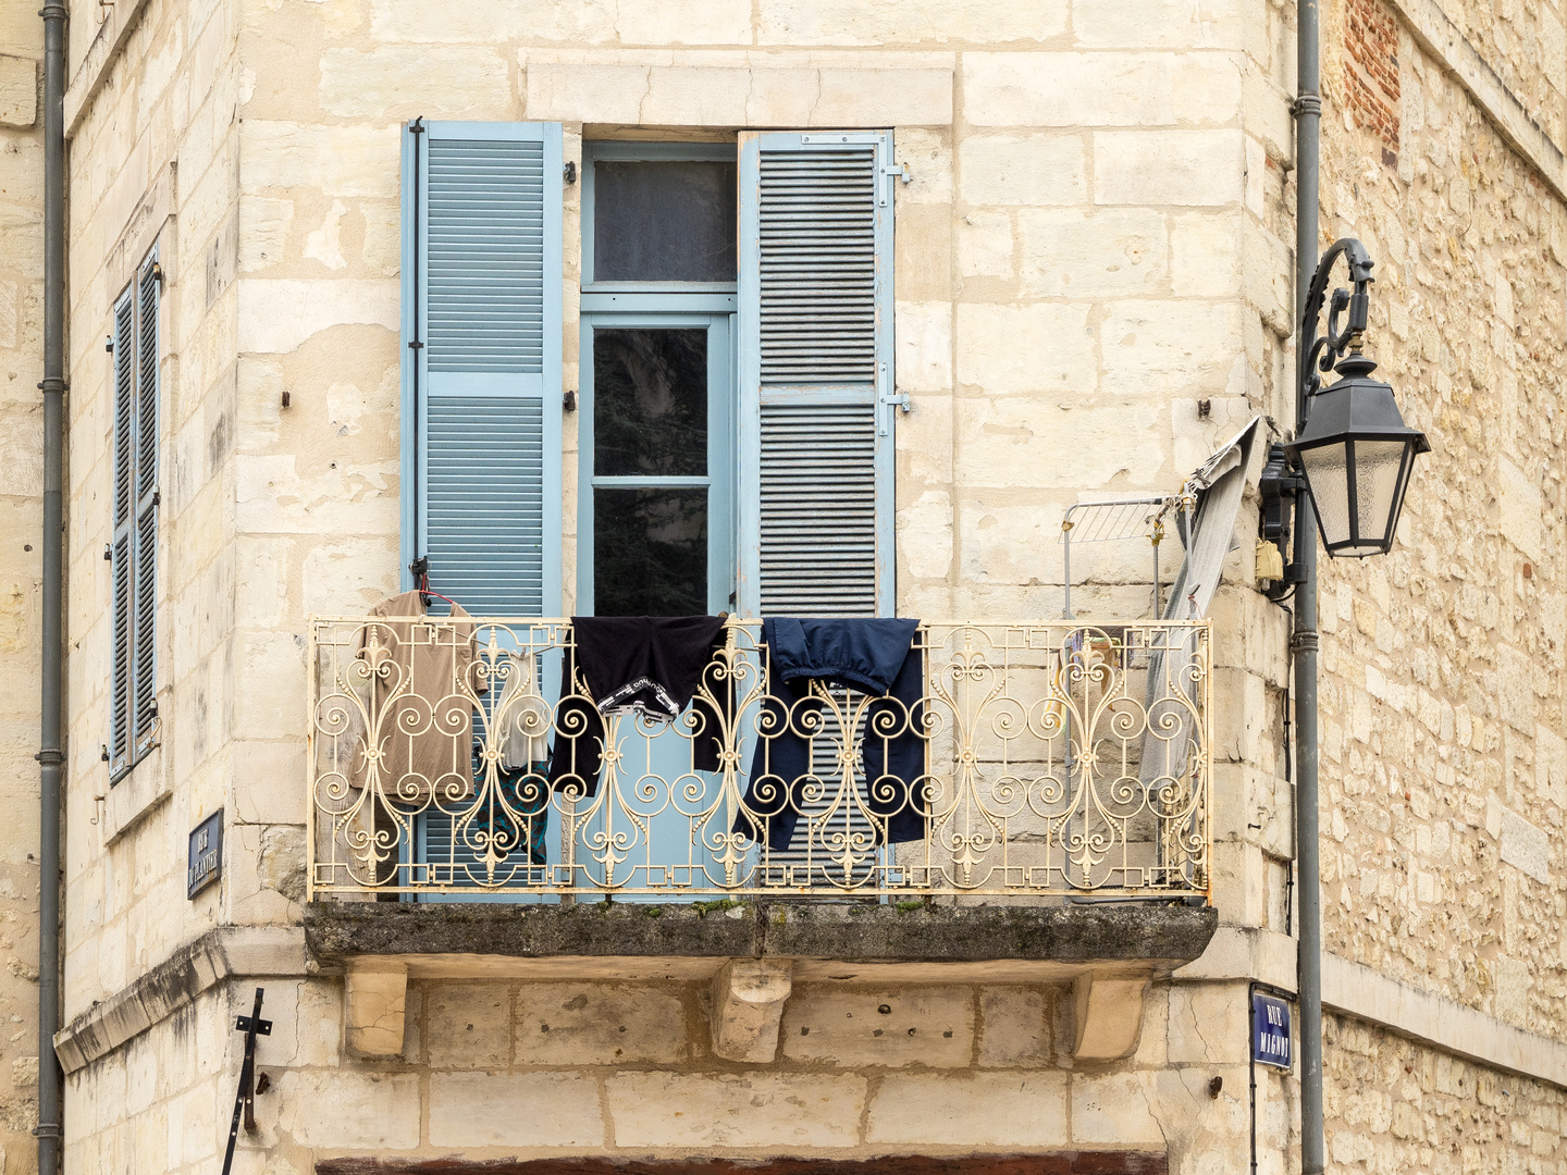
{"label": "blue louvered shutter right of balcony door, part above the railing", "polygon": [[892,616],[890,132],[740,139],[741,602]]}

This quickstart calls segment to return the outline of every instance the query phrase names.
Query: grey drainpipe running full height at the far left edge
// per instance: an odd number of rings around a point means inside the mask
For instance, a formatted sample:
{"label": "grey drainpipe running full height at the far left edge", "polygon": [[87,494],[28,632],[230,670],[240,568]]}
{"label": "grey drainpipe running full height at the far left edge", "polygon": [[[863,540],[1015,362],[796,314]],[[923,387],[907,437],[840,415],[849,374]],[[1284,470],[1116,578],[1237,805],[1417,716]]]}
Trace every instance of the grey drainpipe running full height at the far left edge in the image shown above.
{"label": "grey drainpipe running full height at the far left edge", "polygon": [[66,6],[44,17],[44,598],[38,805],[38,1170],[60,1169],[60,708],[66,400]]}

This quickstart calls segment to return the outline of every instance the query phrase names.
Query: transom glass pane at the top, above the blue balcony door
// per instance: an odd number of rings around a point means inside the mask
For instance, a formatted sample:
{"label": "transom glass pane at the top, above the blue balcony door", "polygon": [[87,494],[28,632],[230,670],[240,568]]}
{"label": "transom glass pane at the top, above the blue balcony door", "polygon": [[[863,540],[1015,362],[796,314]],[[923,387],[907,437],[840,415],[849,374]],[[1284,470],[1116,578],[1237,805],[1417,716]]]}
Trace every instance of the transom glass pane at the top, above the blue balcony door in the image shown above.
{"label": "transom glass pane at the top, above the blue balcony door", "polygon": [[595,282],[733,282],[735,164],[621,163],[592,172]]}

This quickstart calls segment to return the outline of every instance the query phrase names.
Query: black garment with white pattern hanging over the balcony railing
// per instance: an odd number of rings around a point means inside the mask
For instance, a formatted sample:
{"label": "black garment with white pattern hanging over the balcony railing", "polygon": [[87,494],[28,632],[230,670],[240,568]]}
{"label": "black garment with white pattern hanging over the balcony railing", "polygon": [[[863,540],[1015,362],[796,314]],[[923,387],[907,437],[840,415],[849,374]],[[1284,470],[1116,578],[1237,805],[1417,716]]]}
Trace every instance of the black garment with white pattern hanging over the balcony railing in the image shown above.
{"label": "black garment with white pattern hanging over the balcony railing", "polygon": [[[577,785],[594,796],[603,765],[603,718],[638,714],[655,724],[674,722],[724,644],[724,617],[574,616],[572,636],[555,713],[550,783],[556,790]],[[719,696],[727,699],[727,689]],[[699,711],[702,728],[693,739],[691,766],[716,771],[722,727],[705,700]]]}

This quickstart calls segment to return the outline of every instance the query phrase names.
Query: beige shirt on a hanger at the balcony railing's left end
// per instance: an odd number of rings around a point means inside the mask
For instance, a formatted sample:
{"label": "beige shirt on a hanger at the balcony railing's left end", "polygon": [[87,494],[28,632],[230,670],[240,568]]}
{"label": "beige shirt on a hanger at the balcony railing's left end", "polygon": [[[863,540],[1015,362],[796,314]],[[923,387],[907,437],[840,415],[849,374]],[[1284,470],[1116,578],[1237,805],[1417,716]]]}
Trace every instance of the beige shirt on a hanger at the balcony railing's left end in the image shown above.
{"label": "beige shirt on a hanger at the balcony railing's left end", "polygon": [[462,721],[461,703],[450,702],[476,702],[487,689],[475,625],[465,622],[462,605],[451,606],[451,624],[417,624],[425,616],[417,591],[382,600],[370,614],[387,624],[365,625],[348,667],[349,688],[373,722],[373,728],[357,722],[353,785],[368,783],[375,750],[389,801],[415,808],[431,797],[442,805],[467,799],[473,794],[473,722]]}

